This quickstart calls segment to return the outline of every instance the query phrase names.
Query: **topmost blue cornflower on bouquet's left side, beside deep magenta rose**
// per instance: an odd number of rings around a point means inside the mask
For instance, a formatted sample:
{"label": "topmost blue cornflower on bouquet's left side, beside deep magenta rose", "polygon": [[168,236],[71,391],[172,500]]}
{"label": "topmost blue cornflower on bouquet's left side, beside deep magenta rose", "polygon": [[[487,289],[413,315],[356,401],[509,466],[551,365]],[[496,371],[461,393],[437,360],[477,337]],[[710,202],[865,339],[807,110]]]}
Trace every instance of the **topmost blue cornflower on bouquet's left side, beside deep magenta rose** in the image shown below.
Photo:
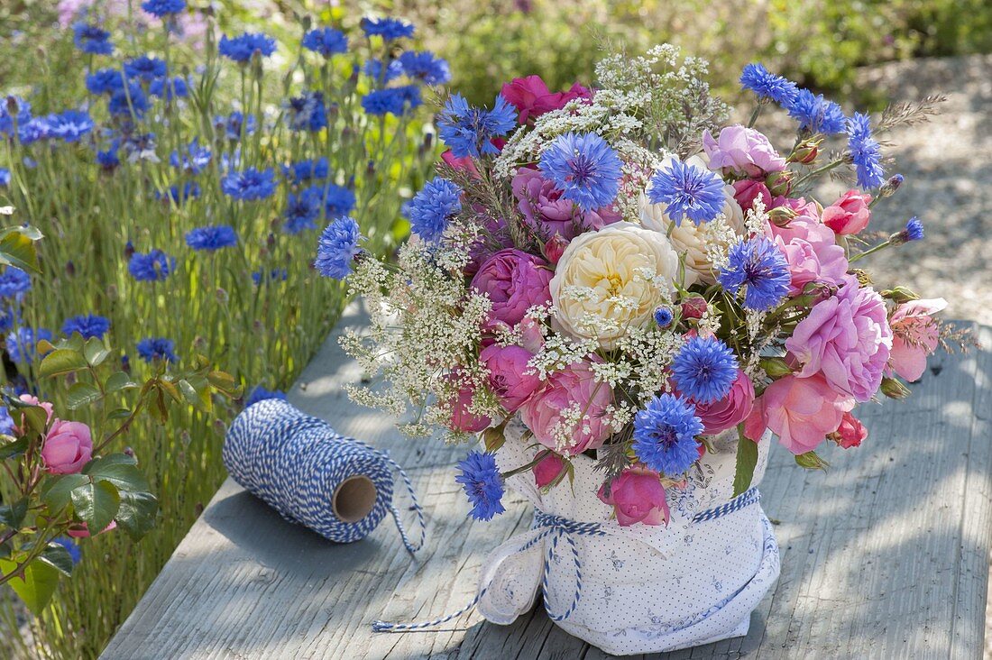
{"label": "topmost blue cornflower on bouquet's left side, beside deep magenta rose", "polygon": [[492,139],[506,135],[516,125],[517,109],[502,95],[497,95],[493,109],[487,110],[472,107],[464,96],[453,94],[437,117],[437,134],[455,158],[478,158],[498,154]]}

